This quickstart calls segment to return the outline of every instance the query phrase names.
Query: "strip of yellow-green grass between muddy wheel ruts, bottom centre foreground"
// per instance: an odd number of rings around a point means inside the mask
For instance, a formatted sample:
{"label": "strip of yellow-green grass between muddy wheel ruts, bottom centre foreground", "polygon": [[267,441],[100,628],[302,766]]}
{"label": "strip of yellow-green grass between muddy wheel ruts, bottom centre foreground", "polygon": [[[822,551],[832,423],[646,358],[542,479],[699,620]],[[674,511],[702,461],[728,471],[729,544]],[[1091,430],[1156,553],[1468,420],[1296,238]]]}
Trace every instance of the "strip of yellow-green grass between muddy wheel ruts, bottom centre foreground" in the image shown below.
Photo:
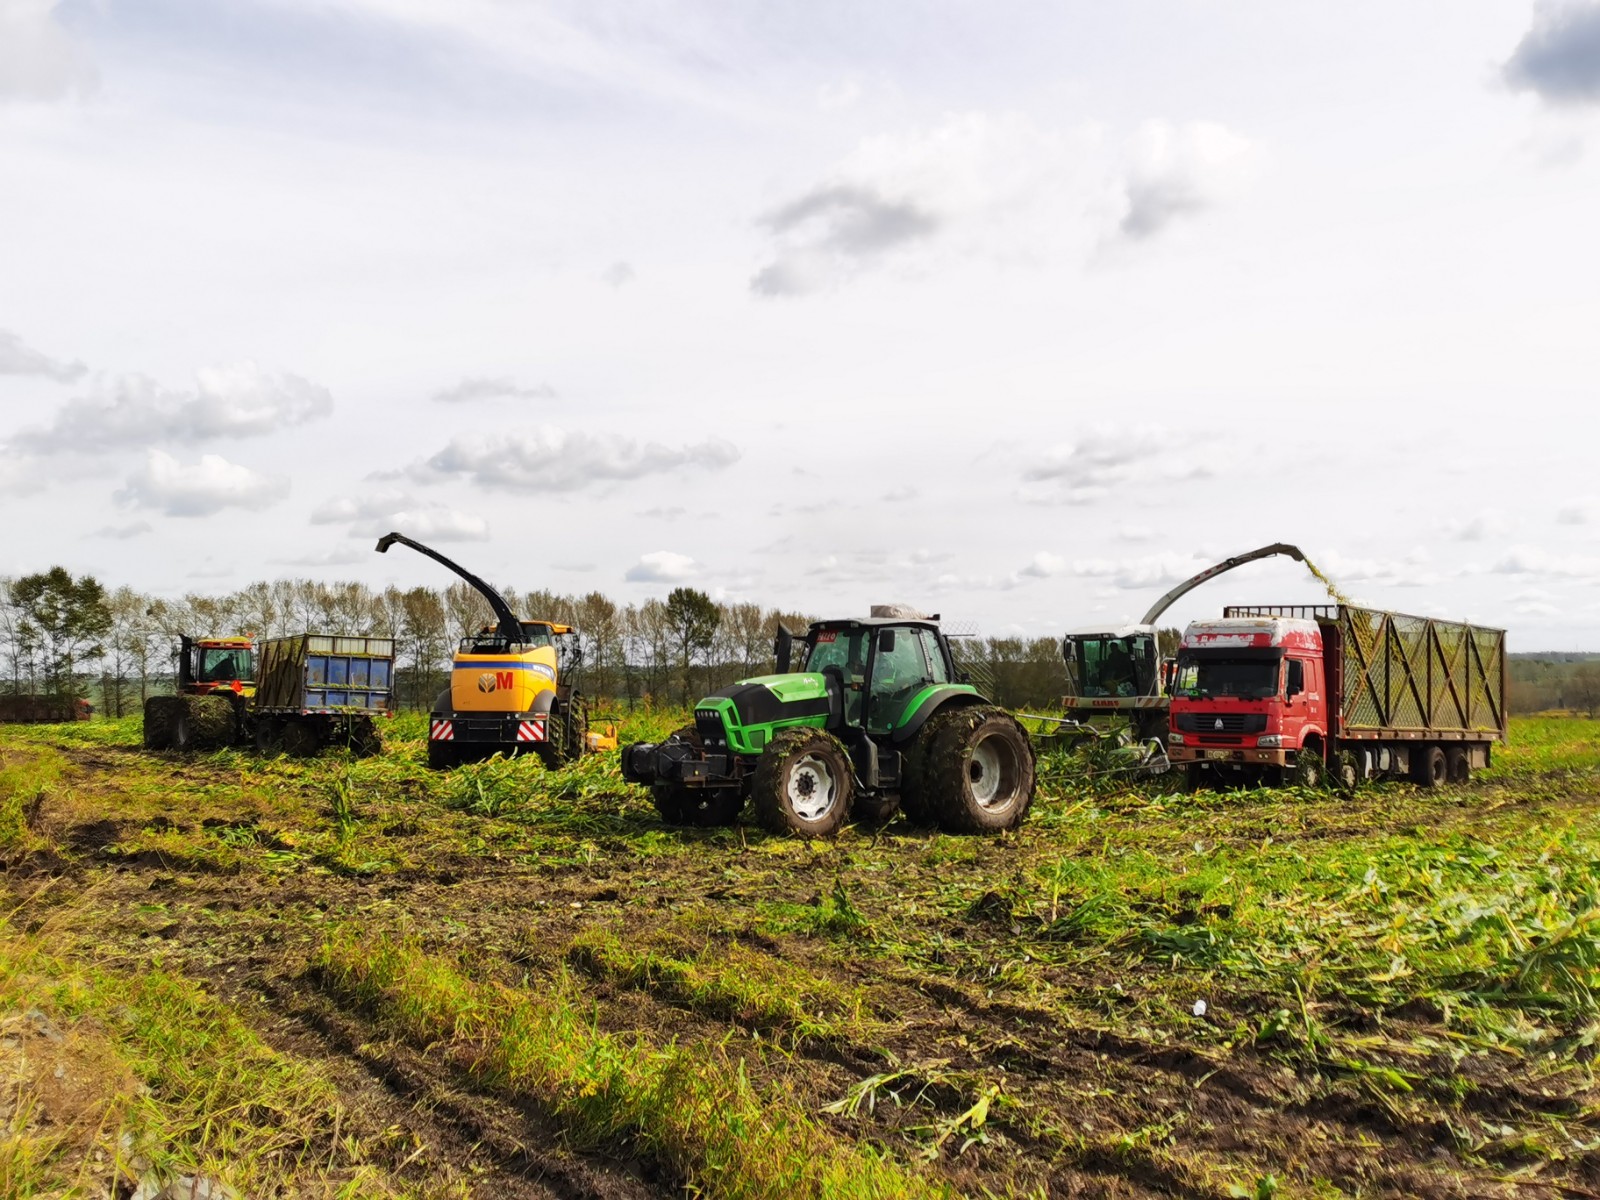
{"label": "strip of yellow-green grass between muddy wheel ruts, bottom centre foreground", "polygon": [[918,1197],[947,1189],[840,1142],[742,1059],[714,1046],[653,1046],[597,1029],[563,986],[469,979],[414,941],[336,930],[317,966],[338,995],[418,1043],[451,1042],[483,1083],[538,1099],[584,1146],[627,1144],[686,1187],[718,1197]]}

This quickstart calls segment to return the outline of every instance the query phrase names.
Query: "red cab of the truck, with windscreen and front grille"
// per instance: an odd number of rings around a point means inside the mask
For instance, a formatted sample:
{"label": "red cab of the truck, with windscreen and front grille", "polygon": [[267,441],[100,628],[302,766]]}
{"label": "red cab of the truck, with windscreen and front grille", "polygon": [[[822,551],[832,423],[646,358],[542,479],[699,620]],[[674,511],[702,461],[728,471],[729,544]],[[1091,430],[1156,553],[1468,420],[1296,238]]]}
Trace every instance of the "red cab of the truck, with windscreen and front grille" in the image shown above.
{"label": "red cab of the truck, with windscreen and front grille", "polygon": [[1315,782],[1330,707],[1317,621],[1194,621],[1178,648],[1166,755],[1194,782]]}

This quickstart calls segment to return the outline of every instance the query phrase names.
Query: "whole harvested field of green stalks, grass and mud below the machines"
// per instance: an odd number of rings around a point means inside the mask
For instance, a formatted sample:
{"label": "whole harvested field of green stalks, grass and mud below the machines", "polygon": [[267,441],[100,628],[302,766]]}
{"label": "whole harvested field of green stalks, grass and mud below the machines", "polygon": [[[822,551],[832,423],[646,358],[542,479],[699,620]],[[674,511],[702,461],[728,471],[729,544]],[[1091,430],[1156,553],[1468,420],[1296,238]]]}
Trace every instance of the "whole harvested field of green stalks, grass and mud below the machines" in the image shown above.
{"label": "whole harvested field of green stalks, grass and mud below the machines", "polygon": [[0,726],[0,1195],[1600,1195],[1600,723],[834,843],[138,734]]}

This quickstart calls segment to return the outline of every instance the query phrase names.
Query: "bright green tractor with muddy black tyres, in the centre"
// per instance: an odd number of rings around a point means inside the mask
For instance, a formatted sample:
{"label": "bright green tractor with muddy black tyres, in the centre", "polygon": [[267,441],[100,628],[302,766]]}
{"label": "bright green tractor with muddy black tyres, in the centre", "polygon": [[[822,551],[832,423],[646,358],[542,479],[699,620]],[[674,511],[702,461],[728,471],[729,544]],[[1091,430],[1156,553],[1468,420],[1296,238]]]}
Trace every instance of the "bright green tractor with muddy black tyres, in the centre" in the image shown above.
{"label": "bright green tractor with muddy black tyres, in the centre", "polygon": [[779,626],[774,653],[779,674],[706,696],[664,742],[622,747],[622,778],[669,824],[733,824],[747,800],[802,837],[899,810],[950,832],[1021,824],[1034,747],[955,669],[939,618],[819,621],[803,638]]}

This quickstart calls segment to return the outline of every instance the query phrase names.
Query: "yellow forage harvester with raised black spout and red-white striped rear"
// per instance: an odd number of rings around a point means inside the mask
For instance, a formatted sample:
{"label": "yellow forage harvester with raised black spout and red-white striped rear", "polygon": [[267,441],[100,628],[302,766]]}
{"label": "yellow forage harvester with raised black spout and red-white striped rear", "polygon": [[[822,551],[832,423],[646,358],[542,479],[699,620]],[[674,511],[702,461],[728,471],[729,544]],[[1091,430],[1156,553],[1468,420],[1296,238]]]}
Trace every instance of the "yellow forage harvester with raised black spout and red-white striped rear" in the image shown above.
{"label": "yellow forage harvester with raised black spout and red-white striped rear", "polygon": [[450,666],[450,686],[429,714],[429,766],[454,766],[493,754],[538,754],[560,766],[589,750],[614,750],[616,731],[590,731],[589,702],[578,690],[582,650],[578,630],[554,621],[520,621],[506,598],[437,550],[390,533],[448,566],[488,602],[494,624],[464,637]]}

